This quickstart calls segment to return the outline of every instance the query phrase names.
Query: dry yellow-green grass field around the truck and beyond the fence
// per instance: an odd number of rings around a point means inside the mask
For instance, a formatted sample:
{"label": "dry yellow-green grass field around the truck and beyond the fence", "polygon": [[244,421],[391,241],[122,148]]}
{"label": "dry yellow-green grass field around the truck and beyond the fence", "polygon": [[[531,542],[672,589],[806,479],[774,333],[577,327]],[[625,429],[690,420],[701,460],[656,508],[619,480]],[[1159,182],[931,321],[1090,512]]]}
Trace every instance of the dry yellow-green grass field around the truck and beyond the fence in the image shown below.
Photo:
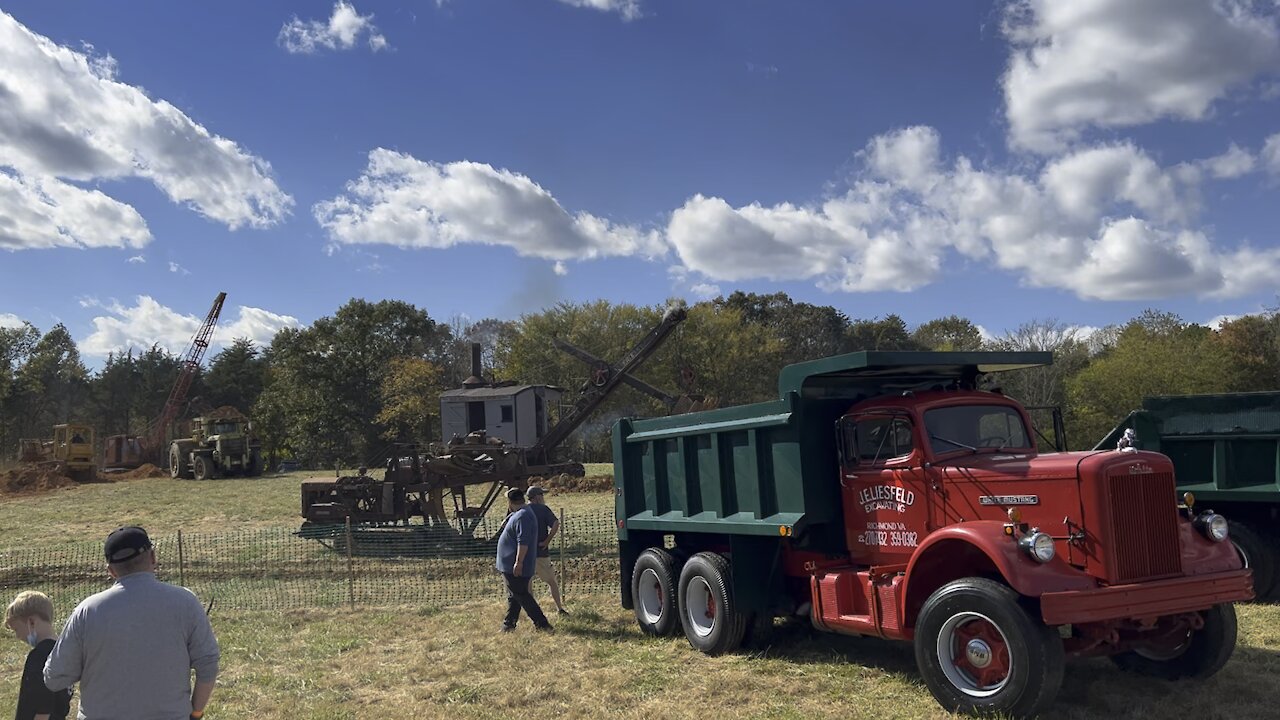
{"label": "dry yellow-green grass field around the truck and beyond the fence", "polygon": [[[122,523],[141,523],[156,534],[292,528],[298,480],[307,475],[132,480],[0,497],[0,527],[10,529],[6,543],[28,547],[97,543]],[[599,512],[612,507],[612,496],[561,493],[549,503],[571,514]],[[448,609],[355,612],[215,609],[223,674],[206,717],[948,716],[920,683],[909,644],[794,623],[778,625],[764,647],[707,657],[684,638],[643,637],[612,596],[570,596],[568,605],[573,615],[557,623],[553,635],[534,633],[527,621],[515,634],[499,634],[498,597]],[[1240,606],[1239,615],[1240,646],[1213,679],[1165,683],[1124,675],[1103,659],[1074,661],[1047,717],[1276,716],[1280,606]],[[12,637],[0,642],[0,712],[15,702],[26,651]]]}

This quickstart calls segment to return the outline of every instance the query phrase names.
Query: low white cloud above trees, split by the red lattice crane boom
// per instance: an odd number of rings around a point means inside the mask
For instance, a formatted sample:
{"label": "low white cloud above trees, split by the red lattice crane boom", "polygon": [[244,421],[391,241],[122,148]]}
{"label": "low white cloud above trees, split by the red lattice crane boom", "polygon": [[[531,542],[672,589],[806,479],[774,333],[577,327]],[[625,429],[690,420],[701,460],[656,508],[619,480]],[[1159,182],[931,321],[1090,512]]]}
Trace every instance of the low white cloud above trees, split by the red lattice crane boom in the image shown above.
{"label": "low white cloud above trees, split by the red lattice crane boom", "polygon": [[[93,332],[79,342],[81,352],[95,357],[129,348],[142,350],[152,345],[180,354],[204,323],[204,318],[183,315],[146,295],[140,295],[132,307],[119,302],[97,304],[97,306],[106,314],[93,318]],[[260,307],[242,305],[238,313],[236,320],[219,324],[214,331],[212,345],[227,346],[238,337],[268,345],[280,329],[301,327],[297,318],[278,315]]]}

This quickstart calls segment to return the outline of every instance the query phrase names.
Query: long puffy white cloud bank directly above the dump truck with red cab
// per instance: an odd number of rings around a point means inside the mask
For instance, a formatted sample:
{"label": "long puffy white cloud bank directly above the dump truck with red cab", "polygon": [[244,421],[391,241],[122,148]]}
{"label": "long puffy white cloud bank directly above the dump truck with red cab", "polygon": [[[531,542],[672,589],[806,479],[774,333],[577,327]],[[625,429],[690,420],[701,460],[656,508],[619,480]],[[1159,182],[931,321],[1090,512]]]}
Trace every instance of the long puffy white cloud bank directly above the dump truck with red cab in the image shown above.
{"label": "long puffy white cloud bank directly above the dump truck with red cab", "polygon": [[937,147],[929,128],[876,137],[852,186],[819,205],[732,208],[698,195],[667,237],[684,272],[712,281],[840,291],[914,290],[955,255],[1098,300],[1238,296],[1280,274],[1280,250],[1216,249],[1193,225],[1199,173],[1129,143],[1066,154],[1036,174],[947,164]]}

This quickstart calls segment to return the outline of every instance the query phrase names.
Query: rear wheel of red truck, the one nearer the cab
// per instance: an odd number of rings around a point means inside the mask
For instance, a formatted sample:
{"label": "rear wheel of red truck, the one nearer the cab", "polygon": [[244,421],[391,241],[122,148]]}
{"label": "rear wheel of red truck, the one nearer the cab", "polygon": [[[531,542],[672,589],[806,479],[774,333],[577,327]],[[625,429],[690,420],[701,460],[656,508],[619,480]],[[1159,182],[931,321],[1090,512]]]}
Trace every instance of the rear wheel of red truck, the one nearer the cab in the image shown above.
{"label": "rear wheel of red truck, the one nearer the cab", "polygon": [[699,552],[680,571],[680,619],[694,650],[707,655],[733,652],[742,644],[746,615],[733,602],[728,561]]}

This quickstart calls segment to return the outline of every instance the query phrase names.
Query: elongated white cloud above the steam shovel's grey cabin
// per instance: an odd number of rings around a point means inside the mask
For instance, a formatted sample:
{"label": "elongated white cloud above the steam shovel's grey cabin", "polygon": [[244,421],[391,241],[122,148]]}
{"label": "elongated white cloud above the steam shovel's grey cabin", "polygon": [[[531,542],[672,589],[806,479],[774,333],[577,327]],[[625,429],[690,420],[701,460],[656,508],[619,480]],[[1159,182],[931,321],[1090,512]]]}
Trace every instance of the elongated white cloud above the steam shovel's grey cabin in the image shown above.
{"label": "elongated white cloud above the steam shovel's grey cabin", "polygon": [[662,255],[653,231],[570,214],[527,177],[484,163],[430,163],[392,150],[369,154],[346,195],[317,202],[316,222],[340,245],[444,249],[500,245],[548,260]]}

